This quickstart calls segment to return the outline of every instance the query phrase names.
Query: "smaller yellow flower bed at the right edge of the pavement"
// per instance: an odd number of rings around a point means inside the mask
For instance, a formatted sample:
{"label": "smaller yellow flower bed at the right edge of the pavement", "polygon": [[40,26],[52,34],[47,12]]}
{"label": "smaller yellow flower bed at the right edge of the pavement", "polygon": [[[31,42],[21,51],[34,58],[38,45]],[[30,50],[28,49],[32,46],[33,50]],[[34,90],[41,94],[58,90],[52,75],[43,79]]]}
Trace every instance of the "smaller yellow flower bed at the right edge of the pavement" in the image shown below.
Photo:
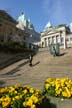
{"label": "smaller yellow flower bed at the right edge of the pavement", "polygon": [[72,97],[72,80],[68,78],[48,78],[45,81],[44,95],[71,98]]}

